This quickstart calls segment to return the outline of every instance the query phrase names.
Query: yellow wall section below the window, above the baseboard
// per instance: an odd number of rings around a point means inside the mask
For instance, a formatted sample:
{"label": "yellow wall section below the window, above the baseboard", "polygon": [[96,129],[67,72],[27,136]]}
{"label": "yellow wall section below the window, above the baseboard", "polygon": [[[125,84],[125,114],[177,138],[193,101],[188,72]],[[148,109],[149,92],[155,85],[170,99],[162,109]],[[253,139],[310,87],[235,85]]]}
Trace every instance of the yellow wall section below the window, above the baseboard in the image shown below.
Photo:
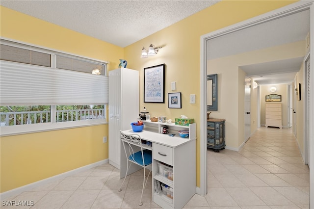
{"label": "yellow wall section below the window, above the baseboard", "polygon": [[108,158],[105,125],[1,137],[1,192]]}

